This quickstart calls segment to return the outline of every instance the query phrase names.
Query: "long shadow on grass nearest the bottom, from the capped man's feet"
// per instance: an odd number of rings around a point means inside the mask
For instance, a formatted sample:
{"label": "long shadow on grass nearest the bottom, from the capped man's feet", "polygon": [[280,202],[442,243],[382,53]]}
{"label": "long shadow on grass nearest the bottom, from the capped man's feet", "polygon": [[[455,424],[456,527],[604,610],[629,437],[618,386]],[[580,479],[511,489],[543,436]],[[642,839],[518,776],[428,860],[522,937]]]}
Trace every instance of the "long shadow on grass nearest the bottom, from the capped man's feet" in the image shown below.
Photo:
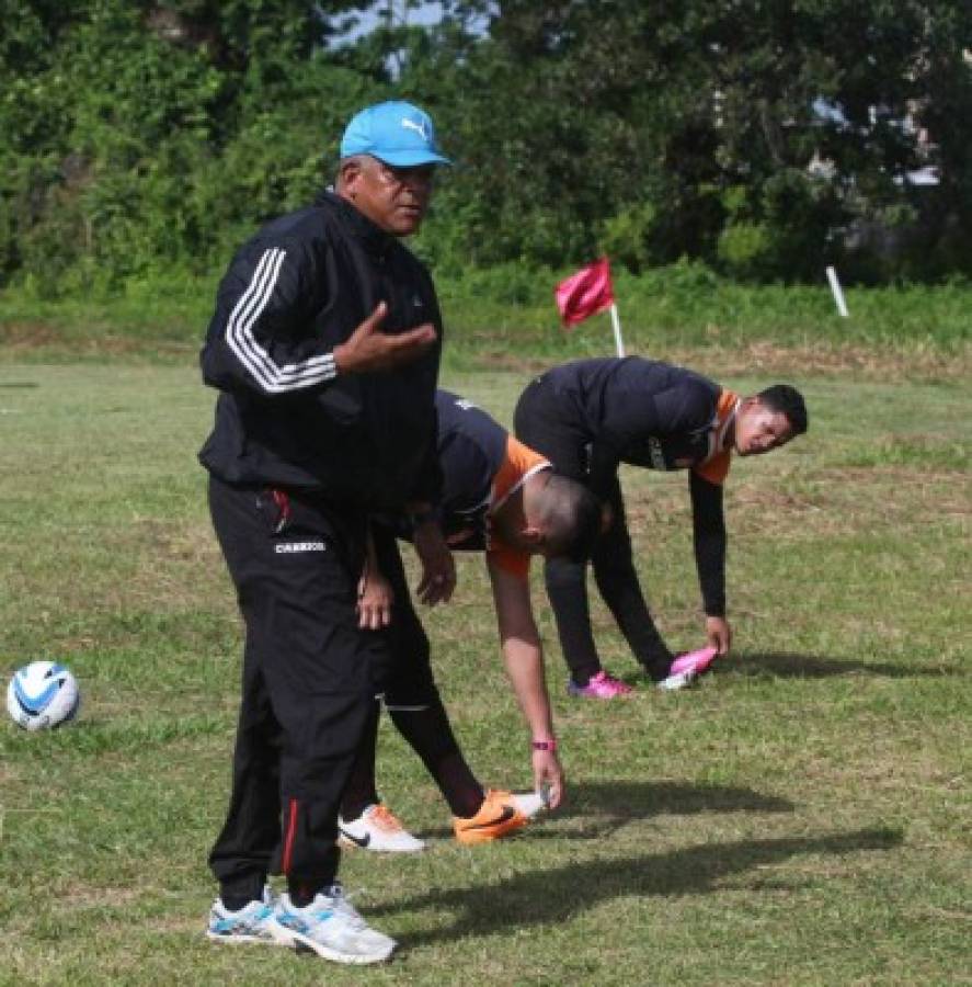
{"label": "long shadow on grass nearest the bottom, from the capped man's feet", "polygon": [[[373,907],[369,915],[423,908],[455,911],[448,928],[408,938],[410,946],[427,945],[442,940],[453,941],[460,935],[490,935],[530,926],[560,924],[614,898],[704,895],[718,890],[721,881],[735,874],[775,866],[800,854],[842,856],[868,850],[892,850],[901,842],[900,831],[873,828],[822,837],[706,843],[618,860],[596,858],[504,877],[489,887],[476,885],[428,890],[394,905]],[[787,884],[787,887],[791,886]],[[765,875],[754,874],[753,888],[766,887]]]}

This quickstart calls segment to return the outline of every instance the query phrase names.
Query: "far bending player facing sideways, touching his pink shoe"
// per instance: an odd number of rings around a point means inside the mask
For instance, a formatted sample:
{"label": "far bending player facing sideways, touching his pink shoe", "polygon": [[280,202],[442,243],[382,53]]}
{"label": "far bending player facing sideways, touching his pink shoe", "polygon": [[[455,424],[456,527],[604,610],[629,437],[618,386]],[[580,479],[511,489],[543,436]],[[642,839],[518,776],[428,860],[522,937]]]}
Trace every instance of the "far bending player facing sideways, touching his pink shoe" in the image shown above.
{"label": "far bending player facing sideways, touching his pink shoe", "polygon": [[[548,456],[558,473],[580,480],[608,502],[611,521],[592,557],[601,595],[650,678],[667,689],[687,684],[731,645],[722,510],[731,454],[771,452],[805,432],[802,396],[777,384],[741,398],[693,371],[636,356],[580,360],[537,377],[521,396],[514,420],[517,438]],[[710,645],[690,656],[673,658],[641,592],[618,483],[621,463],[688,469],[696,567]],[[613,699],[630,692],[597,657],[586,563],[551,558],[545,575],[570,667],[570,693]]]}

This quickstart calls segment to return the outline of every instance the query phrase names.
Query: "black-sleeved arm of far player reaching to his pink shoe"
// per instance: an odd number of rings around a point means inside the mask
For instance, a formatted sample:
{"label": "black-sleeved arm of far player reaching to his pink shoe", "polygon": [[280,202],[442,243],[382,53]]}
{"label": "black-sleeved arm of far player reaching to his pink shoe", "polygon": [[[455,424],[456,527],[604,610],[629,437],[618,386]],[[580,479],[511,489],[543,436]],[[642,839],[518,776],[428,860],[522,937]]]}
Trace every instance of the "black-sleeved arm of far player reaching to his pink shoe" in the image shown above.
{"label": "black-sleeved arm of far player reaching to his pink shoe", "polygon": [[709,644],[725,655],[732,646],[732,628],[725,619],[725,515],[722,487],[688,472],[695,564],[706,611]]}

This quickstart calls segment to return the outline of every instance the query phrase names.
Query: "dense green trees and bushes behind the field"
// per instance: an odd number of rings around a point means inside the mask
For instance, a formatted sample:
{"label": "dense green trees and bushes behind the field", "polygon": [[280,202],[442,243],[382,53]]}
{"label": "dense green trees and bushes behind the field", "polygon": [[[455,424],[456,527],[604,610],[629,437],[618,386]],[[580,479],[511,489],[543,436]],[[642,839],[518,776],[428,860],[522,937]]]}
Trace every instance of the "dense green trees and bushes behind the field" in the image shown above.
{"label": "dense green trees and bushes behind the field", "polygon": [[441,273],[602,250],[765,281],[972,268],[964,0],[424,5],[0,0],[0,284],[219,269],[391,95],[460,162],[419,241]]}

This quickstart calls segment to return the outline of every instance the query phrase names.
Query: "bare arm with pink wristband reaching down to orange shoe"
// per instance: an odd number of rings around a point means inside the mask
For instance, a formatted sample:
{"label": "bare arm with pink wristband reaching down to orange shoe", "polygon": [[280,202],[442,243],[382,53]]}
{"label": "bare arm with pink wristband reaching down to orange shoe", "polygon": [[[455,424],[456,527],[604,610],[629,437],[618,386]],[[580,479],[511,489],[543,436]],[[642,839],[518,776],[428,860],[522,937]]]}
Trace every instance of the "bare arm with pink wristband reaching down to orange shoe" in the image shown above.
{"label": "bare arm with pink wristband reaching down to orange shoe", "polygon": [[[556,808],[563,798],[563,769],[557,757],[544,651],[534,620],[529,582],[503,569],[492,555],[487,555],[487,567],[506,673],[530,729],[534,784],[538,792],[547,792],[548,804]],[[547,745],[546,749],[542,745]]]}

